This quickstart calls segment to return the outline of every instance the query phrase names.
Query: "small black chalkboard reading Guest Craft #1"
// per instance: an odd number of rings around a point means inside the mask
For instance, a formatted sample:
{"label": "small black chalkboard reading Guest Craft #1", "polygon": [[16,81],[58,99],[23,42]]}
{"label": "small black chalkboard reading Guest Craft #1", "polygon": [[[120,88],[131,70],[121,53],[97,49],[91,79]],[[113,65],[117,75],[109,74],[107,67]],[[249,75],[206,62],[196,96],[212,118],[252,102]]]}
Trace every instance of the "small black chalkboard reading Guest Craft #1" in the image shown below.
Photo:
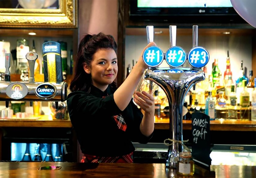
{"label": "small black chalkboard reading Guest Craft #1", "polygon": [[192,114],[192,157],[196,165],[210,170],[210,117],[202,112]]}

